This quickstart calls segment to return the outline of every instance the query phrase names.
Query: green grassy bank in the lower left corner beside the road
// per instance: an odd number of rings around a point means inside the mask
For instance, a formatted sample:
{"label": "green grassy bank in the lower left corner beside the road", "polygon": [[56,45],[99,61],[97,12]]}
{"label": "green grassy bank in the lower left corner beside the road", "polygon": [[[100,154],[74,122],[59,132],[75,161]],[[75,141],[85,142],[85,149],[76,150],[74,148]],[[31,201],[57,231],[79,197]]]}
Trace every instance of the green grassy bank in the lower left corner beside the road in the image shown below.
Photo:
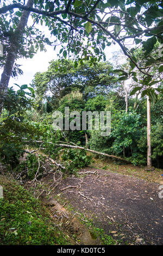
{"label": "green grassy bank in the lower left corner beside the road", "polygon": [[45,208],[28,191],[0,176],[0,245],[66,245],[61,231],[50,221]]}

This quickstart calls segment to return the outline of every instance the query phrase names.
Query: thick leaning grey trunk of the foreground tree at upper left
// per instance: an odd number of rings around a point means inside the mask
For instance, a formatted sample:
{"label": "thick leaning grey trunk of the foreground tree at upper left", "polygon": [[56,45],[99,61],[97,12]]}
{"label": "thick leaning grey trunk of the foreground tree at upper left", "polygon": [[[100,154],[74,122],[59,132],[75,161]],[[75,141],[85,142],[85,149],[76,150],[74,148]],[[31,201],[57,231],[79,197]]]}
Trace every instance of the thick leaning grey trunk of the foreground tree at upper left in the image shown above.
{"label": "thick leaning grey trunk of the foreground tree at upper left", "polygon": [[[28,0],[26,6],[33,7],[33,3],[34,3],[34,0]],[[18,46],[20,44],[20,40],[22,38],[24,28],[27,25],[29,14],[30,14],[30,11],[23,11],[22,13],[20,22],[18,23],[17,29],[13,35],[12,42],[9,47],[7,59],[3,68],[3,73],[0,81],[0,117],[2,114],[4,97],[5,97],[5,94],[7,93],[10,76],[12,74],[12,69],[16,59]]]}

